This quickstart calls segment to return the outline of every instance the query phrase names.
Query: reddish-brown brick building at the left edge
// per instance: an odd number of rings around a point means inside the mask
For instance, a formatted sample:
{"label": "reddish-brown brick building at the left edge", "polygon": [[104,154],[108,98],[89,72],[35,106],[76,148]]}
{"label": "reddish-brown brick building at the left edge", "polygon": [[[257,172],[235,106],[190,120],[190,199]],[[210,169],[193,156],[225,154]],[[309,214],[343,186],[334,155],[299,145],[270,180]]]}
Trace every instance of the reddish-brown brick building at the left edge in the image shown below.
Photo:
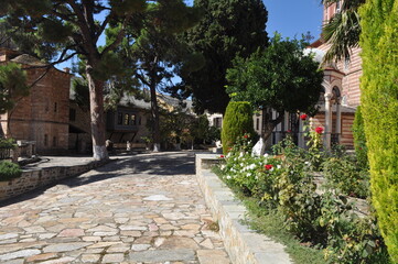
{"label": "reddish-brown brick building at the left edge", "polygon": [[[37,58],[0,47],[0,63],[17,63],[26,70],[28,85],[43,76],[46,64]],[[61,154],[68,148],[71,74],[50,67],[14,109],[1,114],[4,134],[33,141],[39,154]],[[9,122],[9,125],[8,125]]]}

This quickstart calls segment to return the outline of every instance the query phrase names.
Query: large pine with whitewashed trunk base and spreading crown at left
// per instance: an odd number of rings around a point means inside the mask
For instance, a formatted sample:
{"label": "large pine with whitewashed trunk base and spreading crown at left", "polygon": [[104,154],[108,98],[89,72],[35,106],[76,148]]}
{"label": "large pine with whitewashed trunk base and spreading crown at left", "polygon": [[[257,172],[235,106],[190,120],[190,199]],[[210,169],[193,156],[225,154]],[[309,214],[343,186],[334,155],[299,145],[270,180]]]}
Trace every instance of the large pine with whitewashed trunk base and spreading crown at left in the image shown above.
{"label": "large pine with whitewashed trunk base and spreading crown at left", "polygon": [[[1,1],[0,20],[7,23],[8,34],[13,36],[17,45],[32,47],[32,53],[53,62],[50,66],[75,55],[80,55],[86,62],[95,160],[108,158],[105,146],[104,84],[120,68],[120,59],[114,51],[125,38],[126,24],[146,8],[144,0]],[[99,14],[104,15],[101,21],[98,21]],[[99,47],[98,38],[109,24],[119,24],[119,30],[112,42]],[[57,54],[60,57],[55,58]]]}

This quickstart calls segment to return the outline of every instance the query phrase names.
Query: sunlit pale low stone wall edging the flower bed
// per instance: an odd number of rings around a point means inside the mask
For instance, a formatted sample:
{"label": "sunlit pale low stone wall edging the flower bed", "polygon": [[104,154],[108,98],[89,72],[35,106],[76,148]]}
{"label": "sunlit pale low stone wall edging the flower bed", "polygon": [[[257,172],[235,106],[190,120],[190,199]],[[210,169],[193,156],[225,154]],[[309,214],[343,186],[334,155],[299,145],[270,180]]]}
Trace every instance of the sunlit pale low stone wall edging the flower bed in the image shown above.
{"label": "sunlit pale low stone wall edging the flower bed", "polygon": [[219,234],[234,264],[290,264],[284,246],[241,224],[247,210],[209,168],[218,163],[214,154],[196,154],[196,177]]}

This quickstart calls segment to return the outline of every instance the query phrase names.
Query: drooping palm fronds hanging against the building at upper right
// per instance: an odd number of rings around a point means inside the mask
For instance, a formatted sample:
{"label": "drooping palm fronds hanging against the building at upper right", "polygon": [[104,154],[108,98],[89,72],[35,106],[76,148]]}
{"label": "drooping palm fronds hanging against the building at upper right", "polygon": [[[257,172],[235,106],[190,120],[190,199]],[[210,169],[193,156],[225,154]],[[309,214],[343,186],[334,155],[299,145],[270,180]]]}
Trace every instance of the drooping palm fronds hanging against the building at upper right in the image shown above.
{"label": "drooping palm fronds hanging against the building at upper right", "polygon": [[[342,3],[341,3],[342,2]],[[333,3],[341,3],[340,12],[323,25],[322,36],[327,44],[331,44],[323,61],[349,61],[349,52],[359,44],[361,24],[358,8],[365,0],[322,0],[327,7]]]}

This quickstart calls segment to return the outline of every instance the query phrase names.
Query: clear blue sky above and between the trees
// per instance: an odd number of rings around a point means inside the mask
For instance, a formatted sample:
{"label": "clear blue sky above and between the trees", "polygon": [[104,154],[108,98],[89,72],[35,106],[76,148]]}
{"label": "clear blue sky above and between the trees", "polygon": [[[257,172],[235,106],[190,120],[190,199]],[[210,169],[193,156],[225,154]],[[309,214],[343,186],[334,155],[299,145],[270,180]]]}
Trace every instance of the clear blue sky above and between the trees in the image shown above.
{"label": "clear blue sky above and between the trees", "polygon": [[[193,0],[185,0],[192,4]],[[263,0],[268,10],[267,32],[272,36],[278,31],[282,37],[298,37],[308,31],[316,40],[321,34],[321,0]],[[99,43],[101,44],[101,43]],[[71,62],[56,66],[71,67]]]}

